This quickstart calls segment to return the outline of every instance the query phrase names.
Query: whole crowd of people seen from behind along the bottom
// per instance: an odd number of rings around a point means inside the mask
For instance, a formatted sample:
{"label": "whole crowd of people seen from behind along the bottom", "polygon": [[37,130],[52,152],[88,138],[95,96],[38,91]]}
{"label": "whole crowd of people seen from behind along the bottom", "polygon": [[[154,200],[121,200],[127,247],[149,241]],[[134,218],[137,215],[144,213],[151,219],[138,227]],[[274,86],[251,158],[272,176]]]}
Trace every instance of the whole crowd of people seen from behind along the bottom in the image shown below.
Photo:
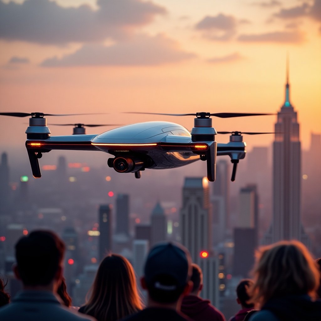
{"label": "whole crowd of people seen from behind along the bottom", "polygon": [[[140,280],[147,291],[145,306],[130,262],[110,254],[100,263],[86,303],[72,307],[64,252],[63,241],[48,230],[33,231],[17,242],[13,272],[22,291],[10,298],[0,278],[1,321],[225,321],[200,297],[206,280],[179,244],[159,243],[148,253]],[[321,321],[320,263],[298,241],[261,247],[253,279],[237,286],[241,309],[230,321]]]}

